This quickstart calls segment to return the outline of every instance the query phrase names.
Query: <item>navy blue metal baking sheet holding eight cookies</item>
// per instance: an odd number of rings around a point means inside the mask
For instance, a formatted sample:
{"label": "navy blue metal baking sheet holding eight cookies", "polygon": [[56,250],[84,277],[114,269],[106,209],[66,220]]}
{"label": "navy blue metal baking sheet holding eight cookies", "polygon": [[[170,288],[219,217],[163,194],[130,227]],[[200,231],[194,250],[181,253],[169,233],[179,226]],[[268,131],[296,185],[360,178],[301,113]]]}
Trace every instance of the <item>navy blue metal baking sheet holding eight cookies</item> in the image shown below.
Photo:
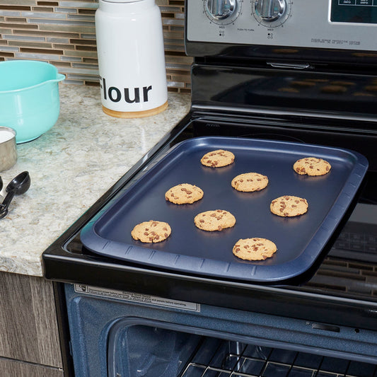
{"label": "navy blue metal baking sheet holding eight cookies", "polygon": [[[223,168],[202,166],[209,151],[226,149],[236,156]],[[298,175],[296,160],[318,157],[330,162],[330,173]],[[305,272],[320,255],[356,195],[368,161],[354,151],[292,142],[228,137],[198,137],[174,146],[149,171],[115,198],[81,231],[81,242],[100,255],[175,272],[248,282],[278,282]],[[267,175],[260,192],[238,192],[231,180],[241,173]],[[197,185],[204,197],[194,204],[173,204],[165,192],[180,183]],[[303,197],[308,212],[296,217],[271,213],[269,204],[282,195]],[[194,217],[225,209],[236,225],[223,231],[202,231]],[[166,221],[172,228],[161,243],[141,243],[131,231],[142,221]],[[267,238],[277,253],[264,261],[234,256],[240,238]]]}

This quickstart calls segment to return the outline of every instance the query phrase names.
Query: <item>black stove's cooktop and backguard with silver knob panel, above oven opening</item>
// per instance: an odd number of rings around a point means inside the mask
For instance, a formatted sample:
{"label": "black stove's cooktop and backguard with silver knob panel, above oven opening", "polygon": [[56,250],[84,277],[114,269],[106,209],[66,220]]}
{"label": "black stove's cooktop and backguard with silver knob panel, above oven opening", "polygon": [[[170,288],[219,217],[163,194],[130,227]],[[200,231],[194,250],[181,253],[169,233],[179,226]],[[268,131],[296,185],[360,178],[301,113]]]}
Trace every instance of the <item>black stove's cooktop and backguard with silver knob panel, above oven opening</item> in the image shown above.
{"label": "black stove's cooktop and backguard with silver knob panel, above oven opening", "polygon": [[[190,113],[45,251],[47,279],[313,320],[331,331],[376,329],[377,6],[301,3],[186,4],[186,50],[195,57]],[[124,262],[83,246],[81,229],[110,200],[172,146],[207,136],[319,144],[366,156],[356,207],[304,274],[257,284]]]}

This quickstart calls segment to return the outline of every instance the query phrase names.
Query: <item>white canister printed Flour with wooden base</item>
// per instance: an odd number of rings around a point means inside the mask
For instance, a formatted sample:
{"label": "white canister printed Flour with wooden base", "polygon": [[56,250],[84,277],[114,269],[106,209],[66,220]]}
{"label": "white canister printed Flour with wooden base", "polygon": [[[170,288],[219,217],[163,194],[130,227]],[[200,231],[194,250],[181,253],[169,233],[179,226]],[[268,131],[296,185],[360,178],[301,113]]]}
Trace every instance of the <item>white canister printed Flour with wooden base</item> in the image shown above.
{"label": "white canister printed Flour with wooden base", "polygon": [[95,12],[103,111],[146,117],[168,106],[160,8],[154,0],[100,0]]}

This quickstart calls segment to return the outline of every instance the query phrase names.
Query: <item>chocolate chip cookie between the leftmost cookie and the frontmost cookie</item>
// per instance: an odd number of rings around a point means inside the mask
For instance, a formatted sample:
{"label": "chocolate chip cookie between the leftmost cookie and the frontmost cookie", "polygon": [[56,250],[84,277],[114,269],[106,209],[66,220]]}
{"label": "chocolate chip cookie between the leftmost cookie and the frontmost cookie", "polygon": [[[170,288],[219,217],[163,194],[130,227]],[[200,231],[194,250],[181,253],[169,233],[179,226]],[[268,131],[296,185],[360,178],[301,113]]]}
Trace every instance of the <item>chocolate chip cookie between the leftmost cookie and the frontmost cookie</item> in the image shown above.
{"label": "chocolate chip cookie between the leftmost cookie and the frontmost cookie", "polygon": [[236,224],[236,217],[231,212],[223,209],[214,211],[205,211],[197,214],[194,219],[195,226],[203,231],[222,231],[225,228],[231,228]]}

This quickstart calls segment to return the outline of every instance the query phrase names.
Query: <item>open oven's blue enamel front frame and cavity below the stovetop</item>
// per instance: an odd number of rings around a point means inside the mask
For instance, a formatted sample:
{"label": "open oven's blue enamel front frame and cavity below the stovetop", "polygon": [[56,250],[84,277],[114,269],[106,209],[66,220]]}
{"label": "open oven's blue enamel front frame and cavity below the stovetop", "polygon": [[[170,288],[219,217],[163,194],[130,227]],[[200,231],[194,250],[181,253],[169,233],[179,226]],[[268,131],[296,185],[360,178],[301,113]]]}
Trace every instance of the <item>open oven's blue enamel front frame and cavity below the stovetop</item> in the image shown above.
{"label": "open oven's blue enamel front frame and cavity below the stovetop", "polygon": [[64,286],[76,377],[374,376],[376,333]]}

